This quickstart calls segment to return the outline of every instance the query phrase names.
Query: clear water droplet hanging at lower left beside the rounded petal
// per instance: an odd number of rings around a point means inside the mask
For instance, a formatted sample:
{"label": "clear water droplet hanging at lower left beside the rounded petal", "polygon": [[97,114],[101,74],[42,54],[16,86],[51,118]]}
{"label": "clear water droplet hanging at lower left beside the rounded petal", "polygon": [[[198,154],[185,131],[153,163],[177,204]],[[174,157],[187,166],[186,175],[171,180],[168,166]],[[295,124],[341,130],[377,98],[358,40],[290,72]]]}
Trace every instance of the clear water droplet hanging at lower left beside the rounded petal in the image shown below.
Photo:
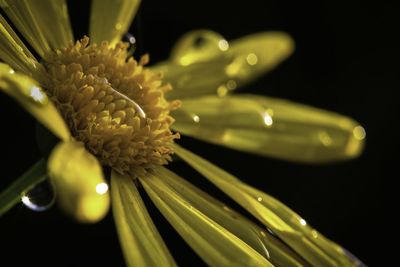
{"label": "clear water droplet hanging at lower left beside the rounded petal", "polygon": [[55,202],[55,191],[50,181],[37,184],[21,197],[22,203],[31,210],[48,210]]}

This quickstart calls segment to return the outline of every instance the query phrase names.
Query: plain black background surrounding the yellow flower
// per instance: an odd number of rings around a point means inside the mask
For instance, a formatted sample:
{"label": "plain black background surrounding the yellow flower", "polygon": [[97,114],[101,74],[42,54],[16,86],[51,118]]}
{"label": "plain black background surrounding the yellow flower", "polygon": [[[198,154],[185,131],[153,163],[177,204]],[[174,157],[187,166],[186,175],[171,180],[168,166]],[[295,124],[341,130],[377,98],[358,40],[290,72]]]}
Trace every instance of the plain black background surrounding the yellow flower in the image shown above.
{"label": "plain black background surrounding the yellow flower", "polygon": [[[87,33],[88,7],[70,1],[76,37]],[[309,166],[190,138],[181,143],[277,197],[367,265],[383,266],[390,257],[384,240],[391,236],[383,210],[393,196],[387,189],[396,174],[389,175],[389,167],[396,164],[398,142],[394,25],[394,10],[383,2],[149,0],[142,4],[132,32],[139,41],[137,52],[150,53],[152,63],[166,59],[174,41],[191,29],[213,29],[227,40],[257,31],[288,32],[296,42],[294,55],[241,92],[287,98],[355,118],[367,132],[362,156]],[[0,188],[4,188],[40,153],[34,121],[9,98],[1,96],[0,101],[4,121]],[[172,168],[233,205],[182,163]],[[201,265],[151,205],[150,210],[178,264]],[[35,213],[18,205],[0,220],[0,249],[1,266],[124,265],[111,213],[96,225],[80,225],[56,207]]]}

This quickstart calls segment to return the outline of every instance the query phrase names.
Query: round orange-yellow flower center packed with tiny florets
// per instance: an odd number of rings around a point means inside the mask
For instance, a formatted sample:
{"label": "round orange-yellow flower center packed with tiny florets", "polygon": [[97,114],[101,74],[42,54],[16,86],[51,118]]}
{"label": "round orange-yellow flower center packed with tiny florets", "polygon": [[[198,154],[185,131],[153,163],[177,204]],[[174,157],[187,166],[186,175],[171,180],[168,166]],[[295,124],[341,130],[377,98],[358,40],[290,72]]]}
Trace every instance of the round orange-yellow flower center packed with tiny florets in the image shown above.
{"label": "round orange-yellow flower center packed with tiny florets", "polygon": [[82,141],[103,165],[119,173],[141,175],[166,164],[171,143],[169,112],[179,101],[168,102],[161,73],[146,69],[127,56],[128,44],[76,44],[49,53],[45,89],[67,121],[72,135]]}

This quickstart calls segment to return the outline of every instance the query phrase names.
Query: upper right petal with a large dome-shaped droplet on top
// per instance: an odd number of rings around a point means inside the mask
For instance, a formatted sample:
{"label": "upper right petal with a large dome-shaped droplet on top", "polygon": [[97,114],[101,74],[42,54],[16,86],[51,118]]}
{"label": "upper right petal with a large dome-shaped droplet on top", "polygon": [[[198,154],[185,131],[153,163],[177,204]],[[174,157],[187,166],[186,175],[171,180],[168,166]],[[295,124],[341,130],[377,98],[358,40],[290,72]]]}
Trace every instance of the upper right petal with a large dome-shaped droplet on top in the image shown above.
{"label": "upper right petal with a large dome-shaped droplet on top", "polygon": [[261,32],[228,43],[219,34],[198,30],[184,35],[171,58],[153,69],[165,74],[173,98],[226,95],[274,69],[294,50],[283,32]]}

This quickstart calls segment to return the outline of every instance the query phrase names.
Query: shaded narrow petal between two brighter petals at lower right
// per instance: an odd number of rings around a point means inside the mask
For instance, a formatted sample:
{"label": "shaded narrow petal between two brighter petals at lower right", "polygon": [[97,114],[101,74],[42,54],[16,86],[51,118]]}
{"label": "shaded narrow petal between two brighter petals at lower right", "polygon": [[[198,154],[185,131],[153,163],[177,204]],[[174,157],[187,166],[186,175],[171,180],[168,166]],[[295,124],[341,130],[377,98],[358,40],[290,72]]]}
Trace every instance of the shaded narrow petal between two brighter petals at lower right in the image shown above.
{"label": "shaded narrow petal between two brighter petals at lower right", "polygon": [[276,266],[307,266],[304,260],[295,255],[290,248],[272,236],[265,228],[258,227],[168,169],[161,167],[155,171],[156,175],[161,177],[185,201],[236,235],[272,264]]}

